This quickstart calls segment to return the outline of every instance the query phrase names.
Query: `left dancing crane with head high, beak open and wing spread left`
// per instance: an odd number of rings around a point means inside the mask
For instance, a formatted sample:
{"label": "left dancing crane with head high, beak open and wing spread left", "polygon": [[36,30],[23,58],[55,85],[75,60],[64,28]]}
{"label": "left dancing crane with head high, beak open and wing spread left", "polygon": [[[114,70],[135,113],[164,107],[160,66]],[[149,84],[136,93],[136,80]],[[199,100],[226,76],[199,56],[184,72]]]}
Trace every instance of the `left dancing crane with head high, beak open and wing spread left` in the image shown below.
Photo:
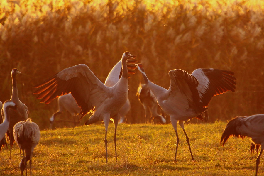
{"label": "left dancing crane with head high, beak open and wing spread left", "polygon": [[[105,126],[105,150],[107,163],[107,130],[110,118],[115,123],[114,143],[116,152],[116,129],[119,121],[119,111],[127,101],[128,96],[128,68],[135,69],[134,65],[127,65],[130,61],[134,63],[134,57],[129,52],[122,55],[122,76],[114,86],[102,83],[87,65],[79,64],[66,68],[35,86],[39,88],[34,94],[40,94],[37,99],[45,104],[63,94],[71,93],[77,104],[81,107],[81,118],[89,111],[94,114],[87,120],[86,125],[104,121]],[[120,73],[120,71],[119,71]],[[116,155],[117,160],[117,155]]]}

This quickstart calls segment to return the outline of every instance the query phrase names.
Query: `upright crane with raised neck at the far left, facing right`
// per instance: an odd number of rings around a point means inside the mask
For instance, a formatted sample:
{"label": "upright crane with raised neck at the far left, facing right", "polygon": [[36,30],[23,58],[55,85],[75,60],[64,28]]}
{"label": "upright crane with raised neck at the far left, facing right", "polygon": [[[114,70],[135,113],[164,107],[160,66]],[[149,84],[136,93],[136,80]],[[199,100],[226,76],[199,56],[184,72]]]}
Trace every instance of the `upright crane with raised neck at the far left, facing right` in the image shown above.
{"label": "upright crane with raised neck at the far left, facing right", "polygon": [[[18,98],[16,75],[21,74],[21,72],[19,72],[16,68],[14,68],[12,69],[11,74],[12,74],[12,95],[11,95],[10,100],[13,101],[17,105],[17,109],[9,110],[10,123],[9,123],[7,136],[9,137],[9,141],[10,141],[10,158],[11,158],[11,152],[12,152],[12,145],[15,141],[14,136],[13,136],[13,127],[19,121],[26,120],[29,114],[28,107],[24,103],[22,103]],[[2,117],[4,117],[3,109],[2,109]]]}

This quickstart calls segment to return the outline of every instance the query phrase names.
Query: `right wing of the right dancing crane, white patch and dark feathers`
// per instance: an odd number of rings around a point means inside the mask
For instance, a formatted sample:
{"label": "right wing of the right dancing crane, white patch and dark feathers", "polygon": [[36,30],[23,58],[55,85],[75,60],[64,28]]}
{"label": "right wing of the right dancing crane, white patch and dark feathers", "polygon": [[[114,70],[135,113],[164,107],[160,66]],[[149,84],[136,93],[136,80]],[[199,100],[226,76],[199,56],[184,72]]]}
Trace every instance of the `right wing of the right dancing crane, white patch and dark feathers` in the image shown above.
{"label": "right wing of the right dancing crane, white patch and dark feathers", "polygon": [[236,78],[234,72],[199,68],[192,72],[192,75],[199,81],[197,90],[200,95],[202,106],[207,107],[211,98],[215,95],[223,94],[226,91],[235,91]]}

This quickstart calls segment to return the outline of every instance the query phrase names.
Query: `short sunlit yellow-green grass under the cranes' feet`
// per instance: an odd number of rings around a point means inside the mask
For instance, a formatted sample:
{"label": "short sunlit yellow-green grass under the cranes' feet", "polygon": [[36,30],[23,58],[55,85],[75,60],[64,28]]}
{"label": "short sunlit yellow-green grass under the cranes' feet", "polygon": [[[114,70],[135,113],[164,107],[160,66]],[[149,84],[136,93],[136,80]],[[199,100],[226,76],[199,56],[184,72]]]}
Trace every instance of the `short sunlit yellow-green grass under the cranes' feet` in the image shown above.
{"label": "short sunlit yellow-green grass under the cranes' feet", "polygon": [[[195,162],[178,126],[180,145],[173,163],[176,135],[172,125],[121,124],[114,155],[114,125],[108,130],[109,161],[105,163],[104,125],[41,131],[32,159],[33,175],[254,175],[256,153],[248,138],[231,138],[224,147],[221,134],[227,122],[187,124]],[[264,174],[263,160],[259,175]],[[20,175],[19,149],[0,153],[0,175]],[[25,173],[24,173],[25,175]]]}

